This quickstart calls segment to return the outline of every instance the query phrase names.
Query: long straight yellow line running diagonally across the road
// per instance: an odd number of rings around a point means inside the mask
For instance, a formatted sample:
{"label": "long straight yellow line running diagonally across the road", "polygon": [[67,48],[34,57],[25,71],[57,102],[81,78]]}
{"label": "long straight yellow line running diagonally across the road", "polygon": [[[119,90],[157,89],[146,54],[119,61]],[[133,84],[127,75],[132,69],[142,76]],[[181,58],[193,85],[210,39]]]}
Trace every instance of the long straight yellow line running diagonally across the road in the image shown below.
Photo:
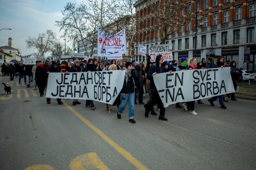
{"label": "long straight yellow line running diagonally across the road", "polygon": [[106,134],[104,134],[101,130],[99,130],[97,127],[95,127],[93,124],[89,122],[89,120],[85,119],[81,114],[76,112],[75,109],[73,109],[71,106],[69,106],[65,101],[63,101],[64,105],[73,112],[79,119],[81,119],[87,126],[89,126],[94,132],[96,132],[103,140],[105,140],[109,145],[111,145],[116,151],[118,151],[123,157],[125,157],[126,160],[131,162],[138,170],[147,170],[144,165],[142,165],[138,160],[133,157],[129,152],[127,152],[122,147],[118,146],[114,141],[112,141],[109,137],[107,137]]}

